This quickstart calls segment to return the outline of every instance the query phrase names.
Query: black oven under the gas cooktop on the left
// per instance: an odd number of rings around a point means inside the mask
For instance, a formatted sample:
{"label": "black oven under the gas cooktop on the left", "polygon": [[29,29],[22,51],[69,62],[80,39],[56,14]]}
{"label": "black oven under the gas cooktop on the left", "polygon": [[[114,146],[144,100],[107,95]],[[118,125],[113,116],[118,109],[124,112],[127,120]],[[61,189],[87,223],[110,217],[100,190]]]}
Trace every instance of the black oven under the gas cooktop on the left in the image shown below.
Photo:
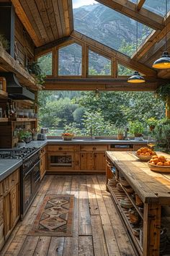
{"label": "black oven under the gas cooktop on the left", "polygon": [[21,218],[23,219],[40,186],[40,150],[24,160],[20,175]]}

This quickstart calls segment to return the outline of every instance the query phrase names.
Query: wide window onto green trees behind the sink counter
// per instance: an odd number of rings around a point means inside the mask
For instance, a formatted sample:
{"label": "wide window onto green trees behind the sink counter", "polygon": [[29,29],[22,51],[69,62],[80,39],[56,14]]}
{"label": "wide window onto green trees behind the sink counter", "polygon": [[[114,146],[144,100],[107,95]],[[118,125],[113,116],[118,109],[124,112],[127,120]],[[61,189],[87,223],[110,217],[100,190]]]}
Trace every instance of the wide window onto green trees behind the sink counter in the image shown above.
{"label": "wide window onto green trees behind the sink counter", "polygon": [[40,91],[39,127],[49,135],[73,132],[76,136],[114,136],[118,128],[165,116],[165,104],[153,93]]}

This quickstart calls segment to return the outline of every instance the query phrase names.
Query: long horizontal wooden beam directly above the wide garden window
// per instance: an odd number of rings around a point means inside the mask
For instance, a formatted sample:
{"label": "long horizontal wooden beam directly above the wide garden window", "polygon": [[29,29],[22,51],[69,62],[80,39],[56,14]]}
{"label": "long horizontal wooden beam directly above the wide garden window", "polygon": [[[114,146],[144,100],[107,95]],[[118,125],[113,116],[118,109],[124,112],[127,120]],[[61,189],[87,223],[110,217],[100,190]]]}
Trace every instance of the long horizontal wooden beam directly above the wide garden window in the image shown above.
{"label": "long horizontal wooden beam directly above the wide garden window", "polygon": [[155,91],[156,81],[146,80],[145,84],[131,85],[128,77],[120,78],[47,78],[45,90],[127,90],[127,91]]}

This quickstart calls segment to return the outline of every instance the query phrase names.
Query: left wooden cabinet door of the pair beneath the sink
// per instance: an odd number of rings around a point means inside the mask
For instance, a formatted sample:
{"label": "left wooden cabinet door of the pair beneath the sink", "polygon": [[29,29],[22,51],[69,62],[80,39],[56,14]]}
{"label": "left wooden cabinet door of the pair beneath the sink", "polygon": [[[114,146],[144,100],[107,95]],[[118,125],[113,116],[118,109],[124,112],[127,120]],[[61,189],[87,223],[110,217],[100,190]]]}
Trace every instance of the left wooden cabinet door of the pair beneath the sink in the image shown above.
{"label": "left wooden cabinet door of the pair beneath the sink", "polygon": [[92,152],[81,153],[80,169],[83,171],[91,171],[94,169],[94,155]]}

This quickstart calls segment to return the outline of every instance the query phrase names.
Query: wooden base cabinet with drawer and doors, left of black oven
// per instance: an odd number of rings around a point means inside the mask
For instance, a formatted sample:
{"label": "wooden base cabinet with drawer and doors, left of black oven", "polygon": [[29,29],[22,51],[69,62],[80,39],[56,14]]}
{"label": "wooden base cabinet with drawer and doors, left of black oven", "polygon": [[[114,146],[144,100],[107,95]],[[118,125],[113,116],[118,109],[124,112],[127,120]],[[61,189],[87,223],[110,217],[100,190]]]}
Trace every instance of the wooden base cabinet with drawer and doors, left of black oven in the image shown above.
{"label": "wooden base cabinet with drawer and doors, left of black oven", "polygon": [[[4,239],[11,234],[20,215],[19,169],[4,179]],[[1,229],[1,228],[0,228]]]}

